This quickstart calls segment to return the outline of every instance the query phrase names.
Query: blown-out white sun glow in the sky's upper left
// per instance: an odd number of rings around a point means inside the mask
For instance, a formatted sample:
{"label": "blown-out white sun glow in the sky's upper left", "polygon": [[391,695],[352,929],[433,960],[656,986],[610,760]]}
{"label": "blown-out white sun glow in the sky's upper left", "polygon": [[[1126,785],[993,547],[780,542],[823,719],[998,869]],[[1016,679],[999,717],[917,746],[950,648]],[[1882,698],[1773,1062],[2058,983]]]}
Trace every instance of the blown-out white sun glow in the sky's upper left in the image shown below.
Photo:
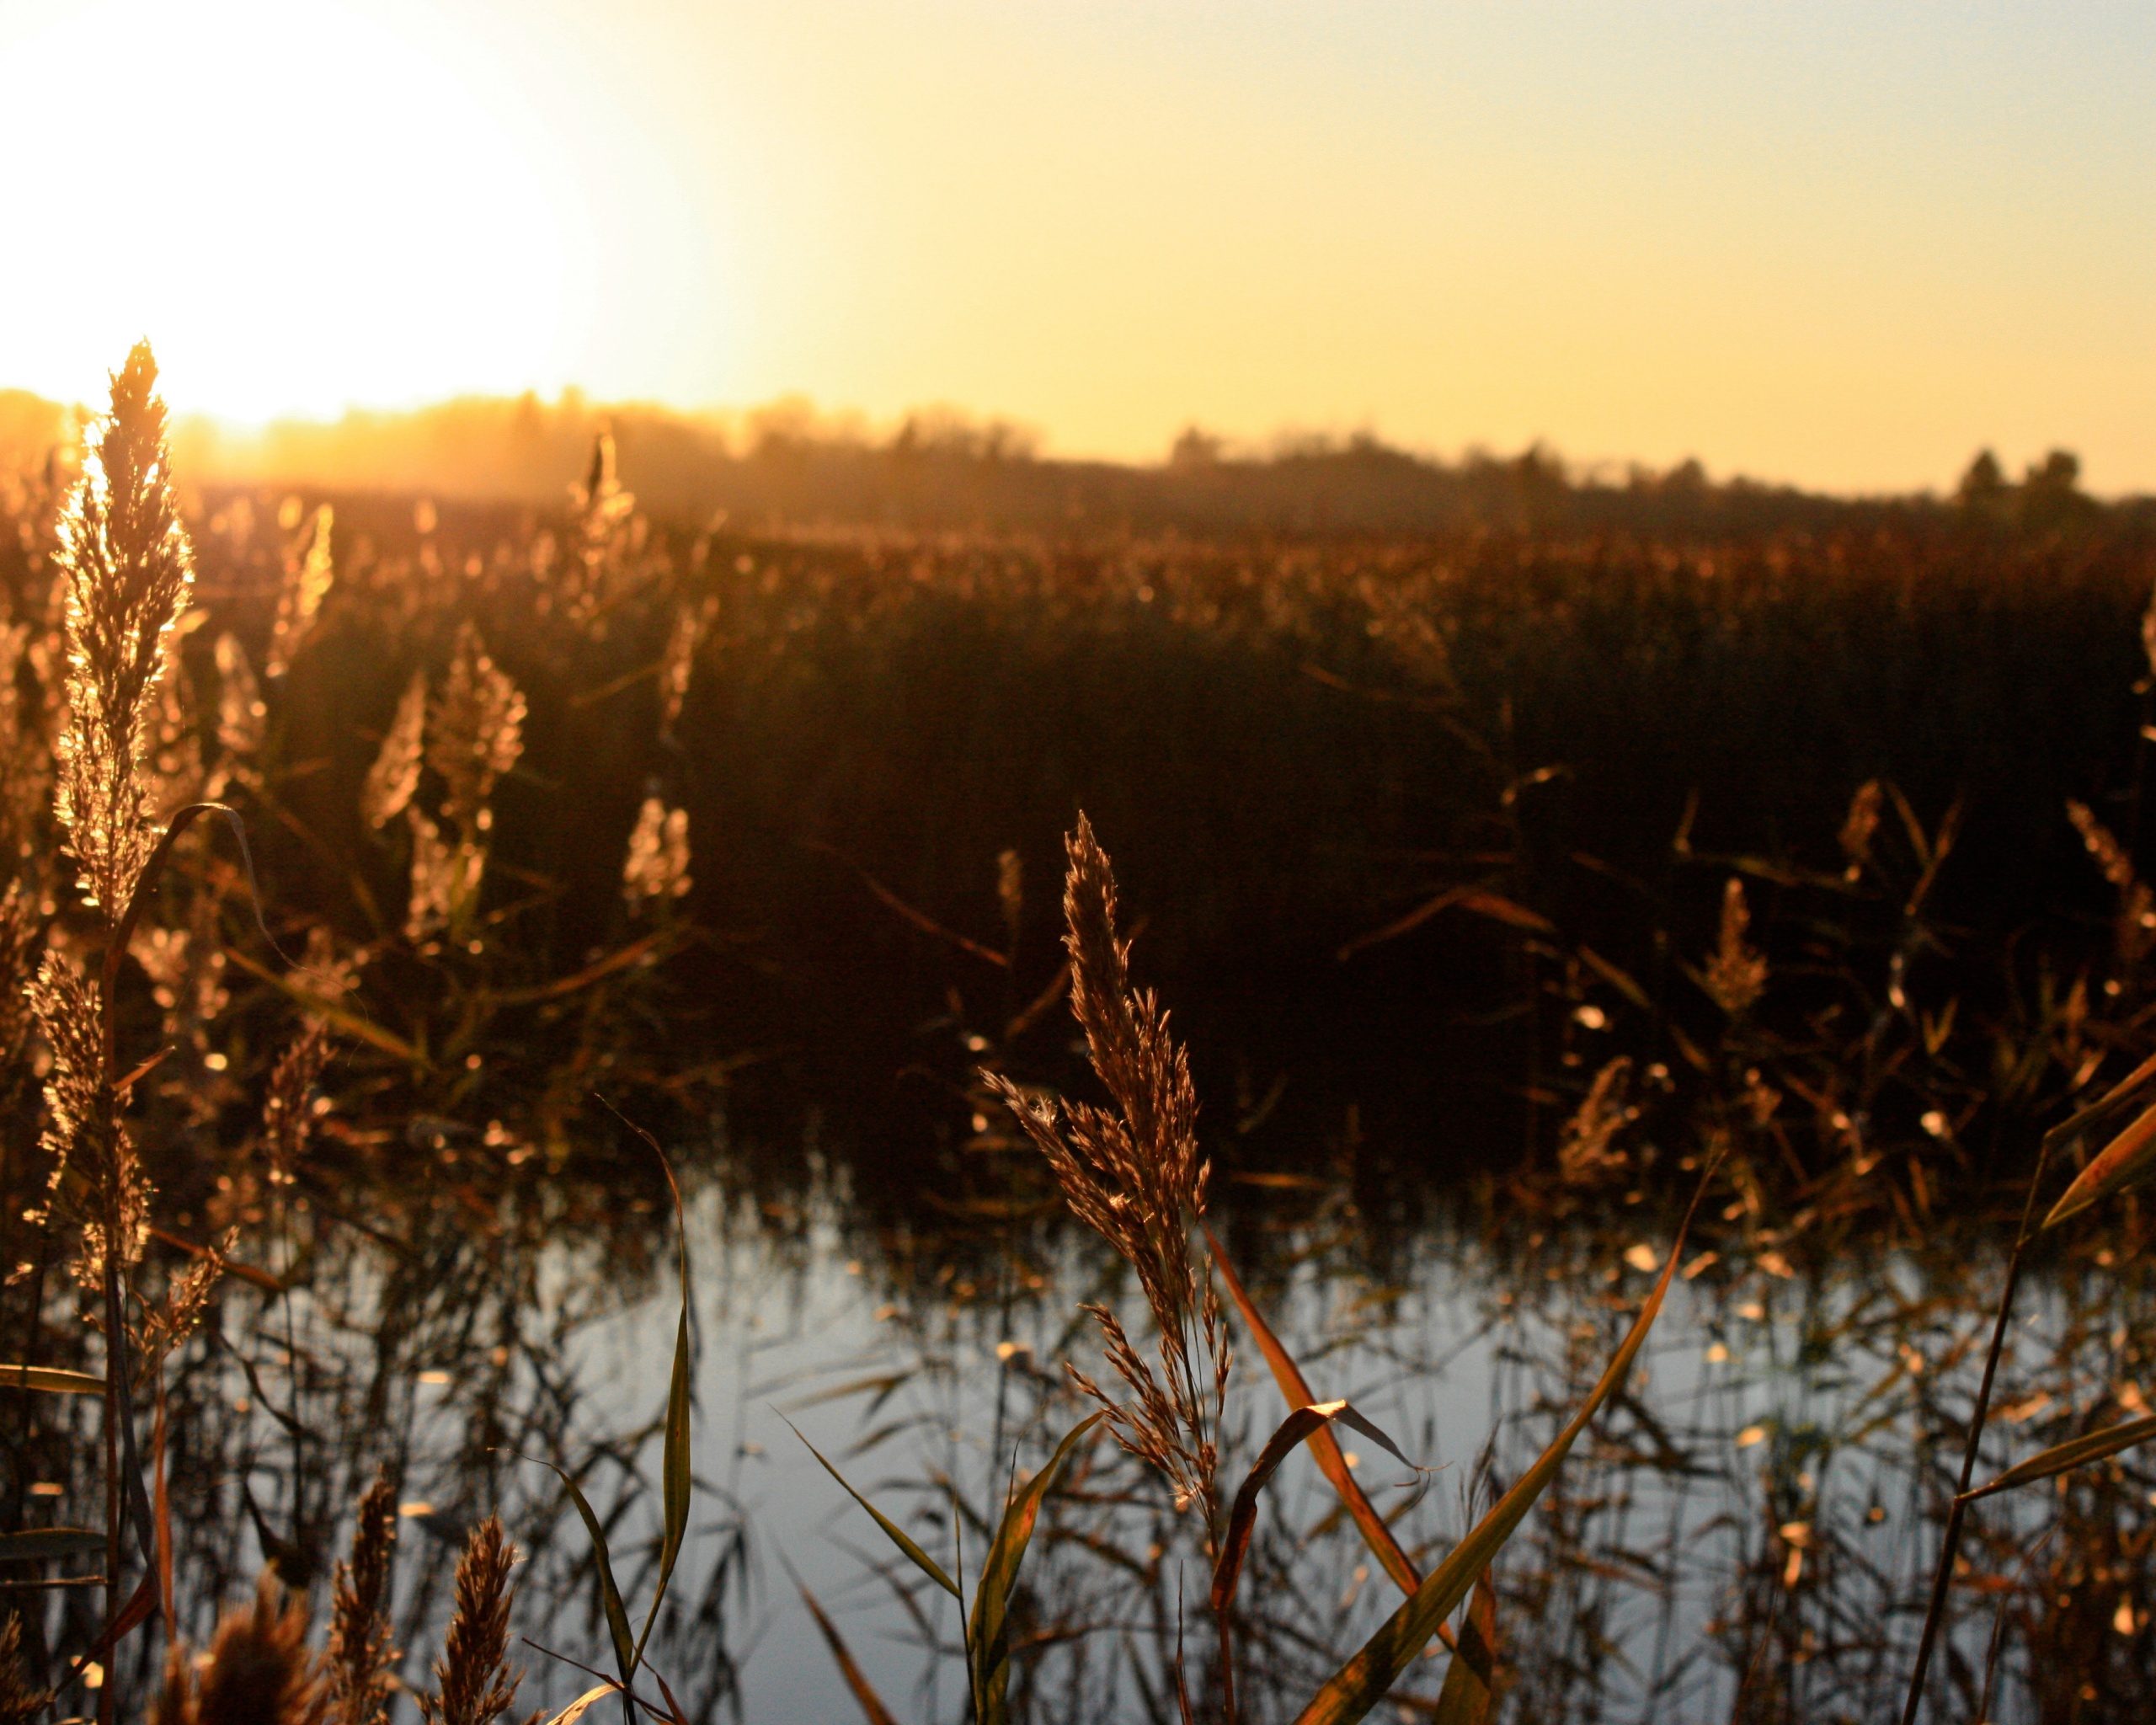
{"label": "blown-out white sun glow in the sky's upper left", "polygon": [[9,43],[0,377],[95,401],[149,334],[175,410],[235,418],[550,382],[565,192],[392,17],[123,0]]}

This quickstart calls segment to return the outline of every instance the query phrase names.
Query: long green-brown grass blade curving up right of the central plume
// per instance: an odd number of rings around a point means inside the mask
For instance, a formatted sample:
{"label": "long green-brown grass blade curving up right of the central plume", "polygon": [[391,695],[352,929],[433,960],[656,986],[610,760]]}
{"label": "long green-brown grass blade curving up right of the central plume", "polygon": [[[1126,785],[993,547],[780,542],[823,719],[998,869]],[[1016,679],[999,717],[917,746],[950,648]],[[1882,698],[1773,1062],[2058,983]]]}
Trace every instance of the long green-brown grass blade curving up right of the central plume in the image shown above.
{"label": "long green-brown grass blade curving up right of the central plume", "polygon": [[1475,1524],[1468,1537],[1453,1546],[1451,1557],[1432,1570],[1429,1578],[1414,1589],[1399,1611],[1363,1643],[1363,1650],[1326,1680],[1324,1688],[1298,1714],[1296,1725],[1350,1725],[1350,1721],[1363,1719],[1376,1708],[1399,1673],[1429,1645],[1429,1637],[1438,1632],[1438,1626],[1468,1596],[1475,1578],[1490,1568],[1490,1559],[1505,1548],[1514,1529],[1526,1520],[1526,1512],[1535,1507],[1535,1499],[1557,1477],[1557,1468],[1580,1432],[1587,1430],[1587,1421],[1600,1412],[1602,1404],[1630,1376],[1632,1361],[1639,1358],[1639,1350],[1647,1343],[1647,1330],[1654,1328],[1654,1320],[1662,1313],[1669,1281],[1677,1270],[1677,1259],[1684,1255],[1684,1236],[1690,1229],[1692,1212],[1699,1210],[1699,1199],[1705,1197],[1708,1182],[1714,1179],[1718,1169],[1720,1156],[1708,1167],[1699,1182],[1699,1192],[1692,1195],[1692,1208],[1686,1210],[1684,1223],[1677,1227],[1677,1238],[1669,1248],[1669,1259],[1662,1264],[1662,1274],[1654,1283],[1654,1292],[1639,1309],[1632,1330],[1617,1348],[1617,1354],[1611,1358],[1602,1380],[1587,1395],[1587,1402],[1580,1404],[1580,1410],[1565,1423],[1565,1430],[1557,1434],[1550,1447],[1542,1451],[1535,1464],[1520,1475],[1514,1488],[1496,1501],[1496,1507]]}

